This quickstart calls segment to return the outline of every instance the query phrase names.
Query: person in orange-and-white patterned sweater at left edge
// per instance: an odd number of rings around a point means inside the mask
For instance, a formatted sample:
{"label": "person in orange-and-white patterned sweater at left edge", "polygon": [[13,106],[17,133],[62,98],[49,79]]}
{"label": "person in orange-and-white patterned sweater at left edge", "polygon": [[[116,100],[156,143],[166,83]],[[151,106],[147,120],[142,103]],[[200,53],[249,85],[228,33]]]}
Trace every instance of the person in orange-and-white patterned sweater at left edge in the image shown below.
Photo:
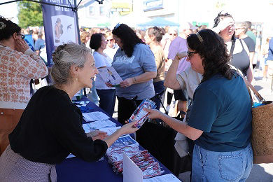
{"label": "person in orange-and-white patterned sweater at left edge", "polygon": [[24,37],[21,27],[0,16],[0,155],[29,102],[29,81],[48,75]]}

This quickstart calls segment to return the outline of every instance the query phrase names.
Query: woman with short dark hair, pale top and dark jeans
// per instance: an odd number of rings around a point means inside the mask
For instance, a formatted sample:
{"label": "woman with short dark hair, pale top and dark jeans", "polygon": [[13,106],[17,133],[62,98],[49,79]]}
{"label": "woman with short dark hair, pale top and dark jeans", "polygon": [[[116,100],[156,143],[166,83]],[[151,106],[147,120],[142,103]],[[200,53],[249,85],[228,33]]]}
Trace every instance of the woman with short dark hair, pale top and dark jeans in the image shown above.
{"label": "woman with short dark hair, pale top and dark jeans", "polygon": [[[107,41],[104,34],[92,34],[90,39],[90,48],[94,49],[94,64],[97,69],[109,67],[113,61],[104,53],[106,45]],[[106,113],[109,113],[109,116],[112,116],[116,103],[115,87],[107,87],[102,76],[99,74],[96,76],[95,85],[97,94],[99,95],[99,107],[106,111]]]}

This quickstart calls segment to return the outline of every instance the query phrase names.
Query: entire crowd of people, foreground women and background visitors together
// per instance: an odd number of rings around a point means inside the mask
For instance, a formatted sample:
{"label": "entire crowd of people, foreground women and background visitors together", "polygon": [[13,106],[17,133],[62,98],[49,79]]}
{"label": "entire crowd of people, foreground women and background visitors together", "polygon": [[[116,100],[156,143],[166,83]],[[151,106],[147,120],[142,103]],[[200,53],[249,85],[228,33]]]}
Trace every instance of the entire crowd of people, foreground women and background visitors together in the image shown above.
{"label": "entire crowd of people, foreground women and background visitors together", "polygon": [[[102,158],[123,134],[136,132],[137,141],[151,148],[153,129],[138,129],[127,120],[143,99],[156,109],[149,118],[165,122],[189,139],[193,150],[192,181],[246,181],[253,165],[251,97],[244,83],[253,81],[258,62],[267,78],[273,60],[273,41],[266,44],[251,22],[235,22],[218,13],[214,27],[189,22],[173,27],[135,30],[125,24],[111,29],[80,29],[81,44],[64,43],[52,53],[53,83],[30,97],[29,81],[48,75],[43,31],[33,30],[33,52],[24,34],[28,29],[0,18],[0,181],[56,181],[55,165],[69,153],[87,162]],[[261,55],[261,56],[257,56]],[[113,66],[123,79],[120,86],[105,83],[99,70]],[[118,100],[117,132],[85,134],[83,115],[72,97],[88,87],[89,98],[113,116]],[[160,111],[162,96],[173,116]],[[50,108],[50,115],[46,109]],[[161,125],[155,120],[155,125]],[[155,130],[155,129],[154,129]],[[25,170],[28,168],[28,170]]]}

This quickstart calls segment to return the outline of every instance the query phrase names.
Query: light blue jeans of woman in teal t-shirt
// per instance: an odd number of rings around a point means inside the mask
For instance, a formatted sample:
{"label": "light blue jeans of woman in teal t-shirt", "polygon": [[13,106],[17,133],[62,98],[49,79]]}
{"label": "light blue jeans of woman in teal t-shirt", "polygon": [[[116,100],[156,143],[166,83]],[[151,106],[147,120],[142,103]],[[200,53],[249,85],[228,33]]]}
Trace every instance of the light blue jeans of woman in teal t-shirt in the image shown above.
{"label": "light blue jeans of woman in teal t-shirt", "polygon": [[246,181],[252,166],[251,144],[232,152],[207,151],[195,145],[192,181]]}

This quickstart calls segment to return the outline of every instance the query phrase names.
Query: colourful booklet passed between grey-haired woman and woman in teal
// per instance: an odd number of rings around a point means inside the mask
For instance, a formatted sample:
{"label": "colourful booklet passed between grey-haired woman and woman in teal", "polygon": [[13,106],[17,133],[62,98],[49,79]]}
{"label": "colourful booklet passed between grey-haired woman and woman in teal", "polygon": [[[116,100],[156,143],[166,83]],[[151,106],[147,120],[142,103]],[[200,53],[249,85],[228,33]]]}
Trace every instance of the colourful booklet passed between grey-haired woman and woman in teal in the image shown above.
{"label": "colourful booklet passed between grey-haired woman and woman in teal", "polygon": [[139,106],[137,107],[137,109],[134,111],[134,113],[129,119],[129,123],[134,122],[136,120],[138,121],[137,124],[134,125],[134,127],[140,128],[144,124],[144,122],[147,120],[148,112],[144,111],[143,110],[144,108],[155,109],[156,108],[155,102],[151,101],[150,99],[144,99],[141,102],[141,104],[139,104]]}

